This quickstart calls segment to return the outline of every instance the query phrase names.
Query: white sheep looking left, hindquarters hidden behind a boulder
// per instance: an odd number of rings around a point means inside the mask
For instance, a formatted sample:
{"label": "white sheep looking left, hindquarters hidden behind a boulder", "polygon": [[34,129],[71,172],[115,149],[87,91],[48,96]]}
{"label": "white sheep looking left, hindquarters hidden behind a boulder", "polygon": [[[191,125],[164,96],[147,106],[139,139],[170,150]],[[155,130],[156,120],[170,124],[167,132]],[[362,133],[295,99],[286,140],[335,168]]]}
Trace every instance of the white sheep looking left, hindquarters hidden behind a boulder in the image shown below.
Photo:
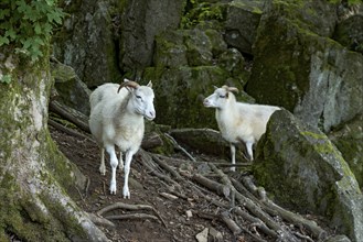
{"label": "white sheep looking left, hindquarters hidden behind a boulder", "polygon": [[[235,164],[235,144],[245,143],[249,160],[253,161],[253,145],[266,132],[270,116],[280,108],[237,102],[232,91],[238,92],[238,89],[228,86],[215,87],[215,91],[204,99],[203,105],[215,108],[220,131],[222,136],[229,142],[232,164]],[[235,170],[235,167],[231,167],[231,170]]]}

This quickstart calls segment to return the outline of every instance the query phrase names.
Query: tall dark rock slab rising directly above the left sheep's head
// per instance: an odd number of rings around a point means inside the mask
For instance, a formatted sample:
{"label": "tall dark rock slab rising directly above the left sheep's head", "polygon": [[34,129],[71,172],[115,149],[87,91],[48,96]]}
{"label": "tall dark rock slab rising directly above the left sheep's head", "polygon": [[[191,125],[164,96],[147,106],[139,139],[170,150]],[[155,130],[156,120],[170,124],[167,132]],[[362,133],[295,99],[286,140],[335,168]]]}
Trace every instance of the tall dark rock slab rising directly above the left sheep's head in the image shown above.
{"label": "tall dark rock slab rising directly above the left sheep's head", "polygon": [[119,67],[140,78],[145,67],[152,64],[156,35],[178,28],[185,0],[125,2],[119,29]]}

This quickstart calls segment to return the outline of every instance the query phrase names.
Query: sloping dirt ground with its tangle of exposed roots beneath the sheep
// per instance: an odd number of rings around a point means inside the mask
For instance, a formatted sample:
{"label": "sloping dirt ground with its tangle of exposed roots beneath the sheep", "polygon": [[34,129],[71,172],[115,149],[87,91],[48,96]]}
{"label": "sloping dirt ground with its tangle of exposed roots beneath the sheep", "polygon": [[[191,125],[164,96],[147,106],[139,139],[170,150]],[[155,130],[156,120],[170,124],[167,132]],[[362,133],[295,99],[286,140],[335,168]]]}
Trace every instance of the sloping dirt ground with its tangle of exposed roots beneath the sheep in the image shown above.
{"label": "sloping dirt ground with its tangle of exposed roots beneath the sheep", "polygon": [[316,217],[301,217],[319,223],[313,231],[305,220],[287,219],[258,204],[254,185],[247,186],[253,180],[248,172],[231,173],[221,161],[205,155],[193,154],[197,162],[192,162],[183,153],[166,157],[141,150],[131,164],[131,198],[122,198],[122,173],[117,177],[117,195],[109,195],[109,165],[106,161],[107,173],[102,176],[97,145],[50,129],[60,150],[88,177],[76,202],[107,219],[99,224],[111,241],[318,241],[331,234]]}

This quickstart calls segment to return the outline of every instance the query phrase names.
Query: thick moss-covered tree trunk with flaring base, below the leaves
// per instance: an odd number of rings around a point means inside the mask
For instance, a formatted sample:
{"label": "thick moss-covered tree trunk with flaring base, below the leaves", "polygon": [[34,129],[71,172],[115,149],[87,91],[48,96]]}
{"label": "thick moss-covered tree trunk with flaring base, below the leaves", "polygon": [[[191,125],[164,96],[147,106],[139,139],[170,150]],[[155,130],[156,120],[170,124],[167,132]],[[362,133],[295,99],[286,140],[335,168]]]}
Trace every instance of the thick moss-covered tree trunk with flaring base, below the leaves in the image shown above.
{"label": "thick moss-covered tree trunk with flaring base, below the leaves", "polygon": [[[53,143],[47,129],[53,80],[49,61],[19,63],[1,50],[0,241],[108,241],[67,191],[85,177]],[[7,64],[6,64],[7,63]]]}

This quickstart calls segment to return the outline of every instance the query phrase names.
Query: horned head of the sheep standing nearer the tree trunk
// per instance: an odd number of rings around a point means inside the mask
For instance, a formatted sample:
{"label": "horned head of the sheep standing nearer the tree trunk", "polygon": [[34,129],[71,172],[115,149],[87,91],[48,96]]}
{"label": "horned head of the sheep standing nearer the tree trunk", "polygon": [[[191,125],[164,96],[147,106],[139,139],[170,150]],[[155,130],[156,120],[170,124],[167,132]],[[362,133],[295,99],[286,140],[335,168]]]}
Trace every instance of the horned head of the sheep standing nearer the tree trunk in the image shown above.
{"label": "horned head of the sheep standing nearer the tree trunk", "polygon": [[140,86],[136,81],[125,79],[125,82],[120,85],[118,91],[122,87],[126,87],[130,92],[129,103],[135,110],[135,112],[143,116],[148,120],[153,120],[156,118],[156,110],[153,107],[153,90],[151,80],[147,86]]}

